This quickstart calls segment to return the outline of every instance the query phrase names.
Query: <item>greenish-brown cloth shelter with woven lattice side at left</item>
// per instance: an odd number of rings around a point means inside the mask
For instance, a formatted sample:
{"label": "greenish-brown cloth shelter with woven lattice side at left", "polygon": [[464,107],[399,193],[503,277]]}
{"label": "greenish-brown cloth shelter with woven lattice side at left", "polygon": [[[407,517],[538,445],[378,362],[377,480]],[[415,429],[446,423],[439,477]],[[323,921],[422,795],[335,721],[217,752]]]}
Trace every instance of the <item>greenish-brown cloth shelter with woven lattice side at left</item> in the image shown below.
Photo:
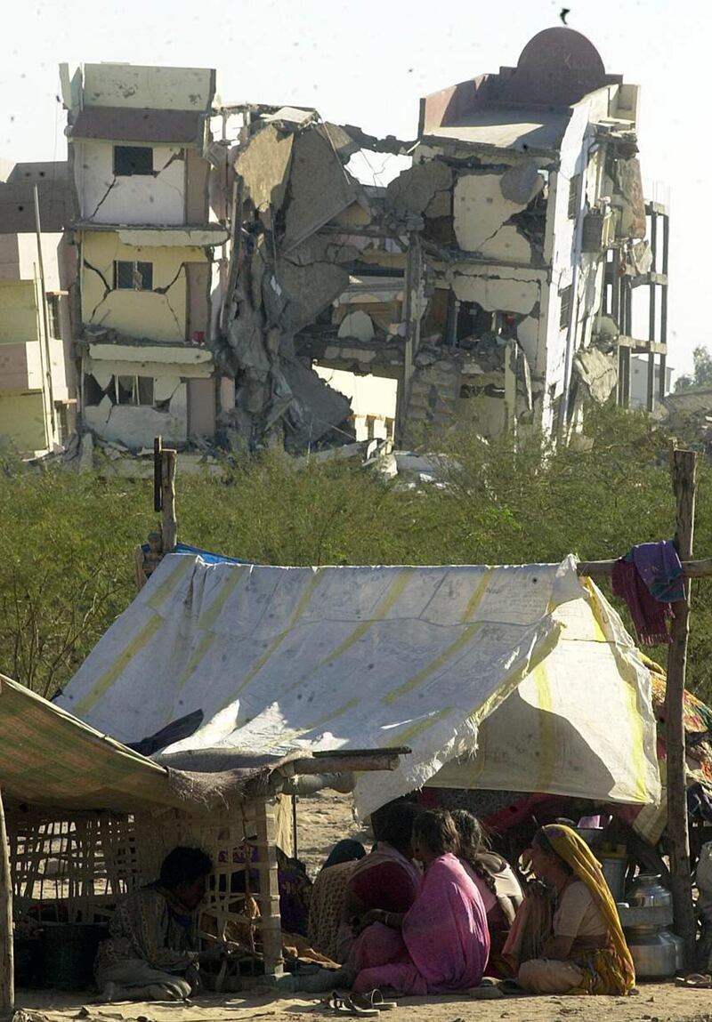
{"label": "greenish-brown cloth shelter with woven lattice side at left", "polygon": [[[331,764],[335,757],[357,771],[398,762],[397,753],[335,753]],[[0,913],[11,893],[18,932],[39,919],[105,922],[119,896],[158,876],[171,848],[197,843],[215,867],[203,922],[222,935],[235,920],[244,924],[232,880],[248,868],[235,857],[247,843],[261,910],[255,938],[266,972],[278,975],[276,847],[291,824],[279,792],[299,789],[302,774],[318,785],[323,770],[322,758],[295,753],[231,756],[218,774],[168,769],[0,675],[0,820],[4,803],[9,846],[5,865],[0,845],[0,879],[9,875]]]}

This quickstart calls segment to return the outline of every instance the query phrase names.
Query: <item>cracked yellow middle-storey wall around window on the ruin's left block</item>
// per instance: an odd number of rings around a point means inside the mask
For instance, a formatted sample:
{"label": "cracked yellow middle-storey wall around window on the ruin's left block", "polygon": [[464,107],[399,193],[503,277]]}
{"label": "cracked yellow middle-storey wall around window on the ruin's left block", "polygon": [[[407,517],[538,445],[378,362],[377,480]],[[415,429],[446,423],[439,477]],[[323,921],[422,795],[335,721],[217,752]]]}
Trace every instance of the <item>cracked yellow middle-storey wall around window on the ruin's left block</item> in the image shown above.
{"label": "cracked yellow middle-storey wall around window on the ruin's left block", "polygon": [[[126,245],[113,231],[85,231],[82,247],[82,320],[86,325],[105,326],[148,340],[185,340],[184,264],[206,263],[203,248]],[[152,263],[153,290],[115,290],[117,260]],[[157,293],[160,288],[168,290]]]}

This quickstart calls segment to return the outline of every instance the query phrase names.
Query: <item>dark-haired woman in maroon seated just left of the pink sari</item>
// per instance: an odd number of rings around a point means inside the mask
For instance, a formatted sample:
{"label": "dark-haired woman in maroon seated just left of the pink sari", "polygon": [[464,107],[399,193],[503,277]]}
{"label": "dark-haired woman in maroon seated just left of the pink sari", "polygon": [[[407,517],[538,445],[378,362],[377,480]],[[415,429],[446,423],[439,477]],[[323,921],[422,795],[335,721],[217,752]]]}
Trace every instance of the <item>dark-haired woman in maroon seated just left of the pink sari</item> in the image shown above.
{"label": "dark-haired woman in maroon seated just left of the pink sari", "polygon": [[353,869],[344,893],[337,941],[337,962],[346,962],[357,935],[357,923],[371,909],[404,913],[415,900],[420,872],[412,862],[413,821],[420,812],[414,802],[390,803],[373,814],[375,844]]}

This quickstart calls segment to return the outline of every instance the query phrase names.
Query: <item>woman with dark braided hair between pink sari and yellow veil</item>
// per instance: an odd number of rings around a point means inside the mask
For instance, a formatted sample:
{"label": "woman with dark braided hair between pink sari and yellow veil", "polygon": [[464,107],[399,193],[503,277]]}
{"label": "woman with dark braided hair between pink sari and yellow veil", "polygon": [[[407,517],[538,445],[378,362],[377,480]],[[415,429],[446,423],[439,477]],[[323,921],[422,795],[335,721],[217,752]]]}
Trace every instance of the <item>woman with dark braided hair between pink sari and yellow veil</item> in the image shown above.
{"label": "woman with dark braided hair between pink sari and yellow veil", "polygon": [[501,855],[489,848],[480,821],[469,809],[455,809],[452,819],[459,838],[459,860],[480,891],[490,934],[489,975],[505,972],[500,956],[517,910],[524,900],[522,885]]}

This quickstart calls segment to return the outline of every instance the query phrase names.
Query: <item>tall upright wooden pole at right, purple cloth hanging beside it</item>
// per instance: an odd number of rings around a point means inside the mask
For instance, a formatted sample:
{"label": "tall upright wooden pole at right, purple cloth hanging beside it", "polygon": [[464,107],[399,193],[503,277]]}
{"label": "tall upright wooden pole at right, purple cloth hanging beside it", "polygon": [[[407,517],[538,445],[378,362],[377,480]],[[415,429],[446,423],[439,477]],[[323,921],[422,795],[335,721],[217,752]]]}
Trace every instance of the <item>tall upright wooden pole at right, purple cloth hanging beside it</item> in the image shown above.
{"label": "tall upright wooden pole at right, purple cloth hanging beside it", "polygon": [[[696,455],[694,451],[673,451],[672,489],[677,506],[675,540],[680,559],[689,560],[695,537]],[[667,843],[670,853],[670,886],[675,929],[684,940],[685,966],[695,956],[696,923],[689,874],[689,835],[684,745],[684,680],[689,632],[689,580],[685,598],[672,605],[672,643],[668,651],[665,696],[667,746]]]}

